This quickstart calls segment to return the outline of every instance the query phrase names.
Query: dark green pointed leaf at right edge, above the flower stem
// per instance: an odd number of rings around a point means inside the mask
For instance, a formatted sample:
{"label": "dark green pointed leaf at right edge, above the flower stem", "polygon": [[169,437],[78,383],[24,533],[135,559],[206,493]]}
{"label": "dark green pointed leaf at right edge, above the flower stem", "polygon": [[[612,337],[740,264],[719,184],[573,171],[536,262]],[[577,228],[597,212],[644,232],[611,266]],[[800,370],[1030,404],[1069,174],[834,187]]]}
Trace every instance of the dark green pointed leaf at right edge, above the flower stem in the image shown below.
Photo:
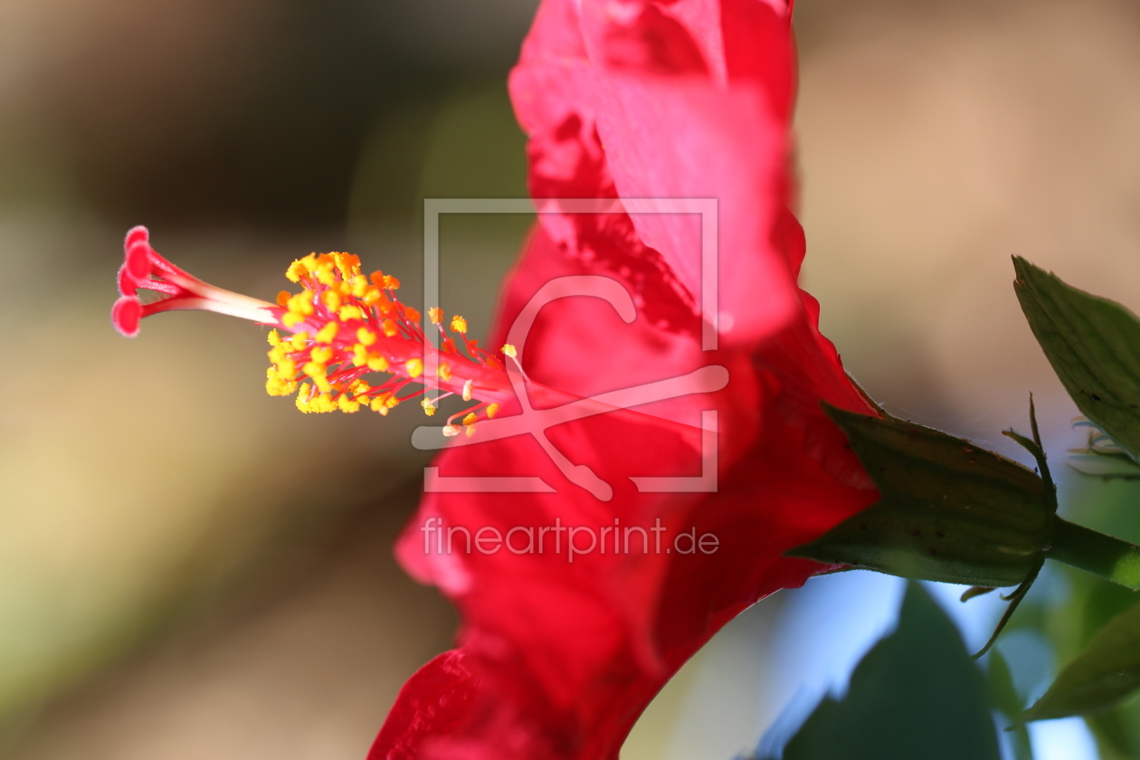
{"label": "dark green pointed leaf at right edge, above the flower stem", "polygon": [[1077,408],[1140,461],[1140,320],[1013,256],[1013,289]]}

